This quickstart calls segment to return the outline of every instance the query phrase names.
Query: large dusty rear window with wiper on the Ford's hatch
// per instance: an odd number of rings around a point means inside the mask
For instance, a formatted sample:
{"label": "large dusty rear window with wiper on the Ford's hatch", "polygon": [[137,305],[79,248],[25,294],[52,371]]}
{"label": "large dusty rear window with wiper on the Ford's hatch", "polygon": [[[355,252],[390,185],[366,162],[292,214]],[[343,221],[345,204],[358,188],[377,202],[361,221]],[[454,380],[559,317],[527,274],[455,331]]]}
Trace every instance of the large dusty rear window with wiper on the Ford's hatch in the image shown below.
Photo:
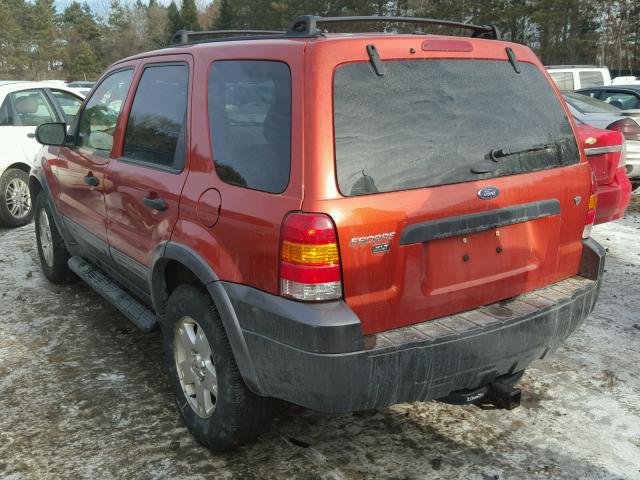
{"label": "large dusty rear window with wiper on the Ford's hatch", "polygon": [[506,61],[386,61],[334,77],[338,185],[364,195],[577,163],[573,130],[536,67]]}

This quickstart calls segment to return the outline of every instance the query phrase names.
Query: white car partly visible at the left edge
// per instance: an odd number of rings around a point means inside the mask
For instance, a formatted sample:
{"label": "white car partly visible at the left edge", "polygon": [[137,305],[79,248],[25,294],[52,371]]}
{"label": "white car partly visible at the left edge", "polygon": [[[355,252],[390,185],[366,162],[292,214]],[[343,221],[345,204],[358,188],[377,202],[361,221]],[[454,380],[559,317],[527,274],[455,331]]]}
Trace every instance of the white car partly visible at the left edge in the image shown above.
{"label": "white car partly visible at the left edge", "polygon": [[20,227],[33,216],[29,171],[41,148],[36,127],[46,122],[70,124],[82,100],[65,85],[0,82],[0,227]]}

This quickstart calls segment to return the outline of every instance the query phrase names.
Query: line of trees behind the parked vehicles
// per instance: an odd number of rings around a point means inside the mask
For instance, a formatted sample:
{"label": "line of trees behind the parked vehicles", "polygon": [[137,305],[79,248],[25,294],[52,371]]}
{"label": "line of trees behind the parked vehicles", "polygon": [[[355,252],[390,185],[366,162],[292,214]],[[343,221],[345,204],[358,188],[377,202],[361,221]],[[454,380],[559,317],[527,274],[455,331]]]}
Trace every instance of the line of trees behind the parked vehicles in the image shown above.
{"label": "line of trees behind the parked vehicles", "polygon": [[[112,0],[108,14],[99,16],[86,2],[57,11],[54,0],[0,0],[0,79],[95,80],[120,58],[167,46],[178,30],[280,30],[306,13],[492,23],[506,40],[533,48],[545,64],[605,65],[614,74],[640,70],[640,0],[214,0],[200,8],[195,0],[178,1]],[[391,23],[375,28],[416,29]]]}

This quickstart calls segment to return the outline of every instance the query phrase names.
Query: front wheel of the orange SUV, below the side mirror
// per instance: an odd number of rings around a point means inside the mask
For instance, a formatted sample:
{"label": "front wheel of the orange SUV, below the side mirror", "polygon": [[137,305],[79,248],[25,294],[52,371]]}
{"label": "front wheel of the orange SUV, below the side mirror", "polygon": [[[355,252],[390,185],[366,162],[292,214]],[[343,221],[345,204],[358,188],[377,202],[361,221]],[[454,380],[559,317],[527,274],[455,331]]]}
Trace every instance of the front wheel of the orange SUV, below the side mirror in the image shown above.
{"label": "front wheel of the orange SUV, below the side mirror", "polygon": [[36,197],[34,212],[38,256],[44,276],[57,285],[73,282],[77,277],[67,265],[69,252],[56,227],[44,192]]}

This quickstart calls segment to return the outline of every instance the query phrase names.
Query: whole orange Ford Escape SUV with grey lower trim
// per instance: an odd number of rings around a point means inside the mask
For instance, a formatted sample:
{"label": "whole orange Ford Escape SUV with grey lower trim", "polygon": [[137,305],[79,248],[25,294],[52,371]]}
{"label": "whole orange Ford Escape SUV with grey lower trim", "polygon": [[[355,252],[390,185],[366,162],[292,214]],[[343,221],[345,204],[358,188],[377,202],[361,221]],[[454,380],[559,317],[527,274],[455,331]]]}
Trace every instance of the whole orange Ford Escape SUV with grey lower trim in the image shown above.
{"label": "whole orange Ford Escape SUV with grey lower trim", "polygon": [[[270,398],[325,412],[514,408],[592,310],[596,185],[535,54],[471,38],[286,33],[111,66],[32,171],[42,269],[160,326],[178,408],[213,450]],[[194,40],[192,42],[192,40]]]}

